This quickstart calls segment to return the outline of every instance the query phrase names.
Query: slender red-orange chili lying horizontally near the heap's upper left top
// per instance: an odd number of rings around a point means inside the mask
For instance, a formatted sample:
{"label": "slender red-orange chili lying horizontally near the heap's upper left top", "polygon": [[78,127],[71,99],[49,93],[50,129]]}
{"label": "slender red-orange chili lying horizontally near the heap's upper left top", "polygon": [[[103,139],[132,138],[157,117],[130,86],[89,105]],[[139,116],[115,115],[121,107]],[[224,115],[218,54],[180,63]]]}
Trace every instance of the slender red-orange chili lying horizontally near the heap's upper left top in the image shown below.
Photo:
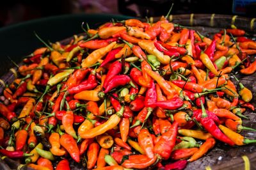
{"label": "slender red-orange chili lying horizontally near the heap's upper left top", "polygon": [[105,40],[90,40],[88,42],[78,43],[79,47],[86,49],[100,49],[102,47],[106,47],[111,42],[116,42],[117,38],[108,38]]}

